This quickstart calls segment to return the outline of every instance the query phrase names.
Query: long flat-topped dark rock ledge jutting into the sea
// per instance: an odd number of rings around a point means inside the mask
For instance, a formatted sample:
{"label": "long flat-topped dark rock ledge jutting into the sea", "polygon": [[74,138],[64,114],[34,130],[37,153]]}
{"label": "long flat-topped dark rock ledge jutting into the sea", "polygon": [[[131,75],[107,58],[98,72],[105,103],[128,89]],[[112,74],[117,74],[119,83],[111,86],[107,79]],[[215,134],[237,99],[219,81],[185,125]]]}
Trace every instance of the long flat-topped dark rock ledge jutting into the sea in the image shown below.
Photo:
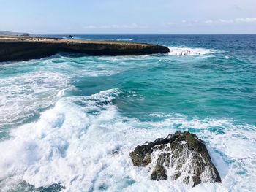
{"label": "long flat-topped dark rock ledge jutting into the sea", "polygon": [[164,46],[135,42],[0,36],[0,62],[43,58],[59,52],[87,55],[145,55],[169,51]]}

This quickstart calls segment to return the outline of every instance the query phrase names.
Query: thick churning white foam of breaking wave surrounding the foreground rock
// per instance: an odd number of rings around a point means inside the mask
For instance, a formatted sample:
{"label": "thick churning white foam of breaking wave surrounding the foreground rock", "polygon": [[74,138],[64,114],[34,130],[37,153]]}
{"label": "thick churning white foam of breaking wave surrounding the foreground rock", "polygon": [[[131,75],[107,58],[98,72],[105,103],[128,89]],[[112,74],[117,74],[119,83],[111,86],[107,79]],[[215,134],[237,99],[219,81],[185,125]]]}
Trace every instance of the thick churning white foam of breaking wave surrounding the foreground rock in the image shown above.
{"label": "thick churning white foam of breaking wave surrounding the foreground rock", "polygon": [[[125,118],[113,104],[119,93],[112,89],[61,98],[37,122],[12,130],[12,138],[0,142],[0,188],[7,191],[25,180],[36,187],[61,183],[63,191],[255,189],[255,127],[227,119],[188,120],[182,115],[161,115],[165,120],[158,122]],[[147,169],[132,166],[129,152],[136,145],[189,128],[206,141],[222,184],[191,188],[171,179],[153,181]]]}

